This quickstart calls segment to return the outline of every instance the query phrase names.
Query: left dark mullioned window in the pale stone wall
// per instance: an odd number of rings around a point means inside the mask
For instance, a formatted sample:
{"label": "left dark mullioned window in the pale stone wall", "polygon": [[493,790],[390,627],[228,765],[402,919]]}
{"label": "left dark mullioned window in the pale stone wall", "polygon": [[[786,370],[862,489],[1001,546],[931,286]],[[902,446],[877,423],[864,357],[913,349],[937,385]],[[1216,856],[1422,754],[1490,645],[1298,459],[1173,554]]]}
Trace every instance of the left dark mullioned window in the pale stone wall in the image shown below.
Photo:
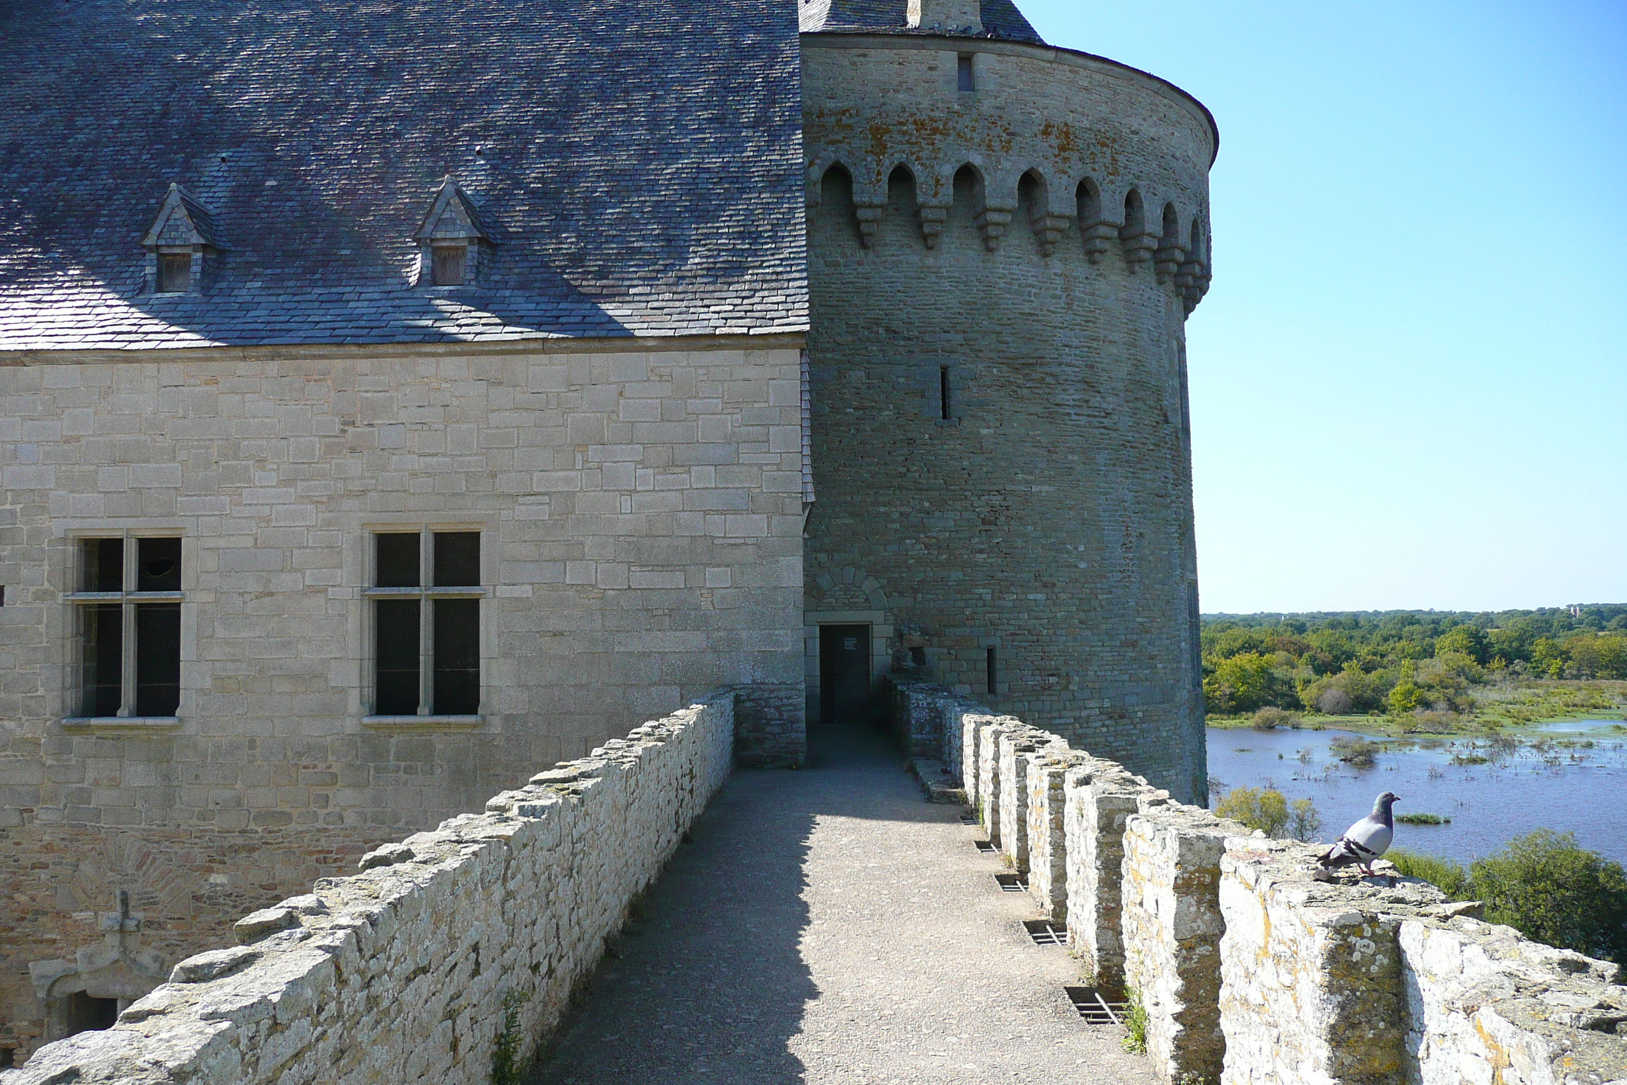
{"label": "left dark mullioned window in the pale stone wall", "polygon": [[80,714],[171,717],[181,709],[181,540],[80,543]]}

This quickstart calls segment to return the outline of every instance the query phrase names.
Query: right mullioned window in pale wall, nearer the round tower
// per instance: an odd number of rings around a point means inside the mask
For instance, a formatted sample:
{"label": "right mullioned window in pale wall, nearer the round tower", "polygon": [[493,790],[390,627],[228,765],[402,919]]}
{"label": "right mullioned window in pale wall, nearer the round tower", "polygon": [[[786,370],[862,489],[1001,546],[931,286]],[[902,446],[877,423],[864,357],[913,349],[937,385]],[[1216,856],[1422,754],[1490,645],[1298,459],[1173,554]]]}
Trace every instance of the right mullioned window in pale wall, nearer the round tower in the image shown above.
{"label": "right mullioned window in pale wall, nearer the round tower", "polygon": [[376,716],[480,711],[480,532],[374,535]]}

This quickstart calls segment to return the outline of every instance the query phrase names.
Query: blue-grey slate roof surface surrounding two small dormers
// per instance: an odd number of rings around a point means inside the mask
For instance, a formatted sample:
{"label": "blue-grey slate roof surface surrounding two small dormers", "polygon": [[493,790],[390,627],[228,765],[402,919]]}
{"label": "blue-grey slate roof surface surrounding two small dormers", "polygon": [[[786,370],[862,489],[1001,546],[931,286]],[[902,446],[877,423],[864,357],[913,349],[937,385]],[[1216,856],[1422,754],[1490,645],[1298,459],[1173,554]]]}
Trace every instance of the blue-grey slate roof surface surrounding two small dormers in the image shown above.
{"label": "blue-grey slate roof surface surrounding two small dormers", "polygon": [[[789,0],[7,0],[0,351],[802,330],[800,114]],[[496,244],[415,288],[447,174]]]}

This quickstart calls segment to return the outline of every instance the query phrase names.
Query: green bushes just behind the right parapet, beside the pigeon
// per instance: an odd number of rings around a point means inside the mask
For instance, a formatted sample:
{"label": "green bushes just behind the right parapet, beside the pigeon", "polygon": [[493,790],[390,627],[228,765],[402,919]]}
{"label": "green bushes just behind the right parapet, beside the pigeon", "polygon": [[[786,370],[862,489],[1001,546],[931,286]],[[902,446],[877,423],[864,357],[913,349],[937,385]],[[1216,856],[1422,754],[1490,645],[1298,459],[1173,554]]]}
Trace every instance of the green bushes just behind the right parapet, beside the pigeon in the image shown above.
{"label": "green bushes just behind the right parapet, beside the pigeon", "polygon": [[1538,830],[1468,869],[1404,848],[1385,857],[1401,874],[1433,882],[1451,900],[1484,901],[1487,922],[1507,924],[1534,942],[1627,965],[1627,872],[1619,862],[1578,848],[1573,833]]}

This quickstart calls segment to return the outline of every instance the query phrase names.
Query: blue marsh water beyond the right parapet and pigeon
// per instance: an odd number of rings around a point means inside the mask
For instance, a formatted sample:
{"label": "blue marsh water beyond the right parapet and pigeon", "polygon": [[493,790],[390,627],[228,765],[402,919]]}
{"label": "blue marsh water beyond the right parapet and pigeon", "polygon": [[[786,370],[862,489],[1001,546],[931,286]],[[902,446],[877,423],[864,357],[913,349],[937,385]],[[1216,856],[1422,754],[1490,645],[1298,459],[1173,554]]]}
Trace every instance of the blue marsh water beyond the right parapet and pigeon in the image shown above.
{"label": "blue marsh water beyond the right parapet and pigeon", "polygon": [[1627,729],[1620,721],[1565,721],[1508,739],[1380,739],[1372,768],[1341,761],[1346,730],[1209,729],[1210,805],[1233,787],[1276,787],[1311,799],[1323,839],[1365,815],[1373,795],[1401,795],[1396,813],[1437,813],[1450,825],[1396,825],[1396,848],[1453,859],[1485,856],[1549,828],[1627,864]]}

